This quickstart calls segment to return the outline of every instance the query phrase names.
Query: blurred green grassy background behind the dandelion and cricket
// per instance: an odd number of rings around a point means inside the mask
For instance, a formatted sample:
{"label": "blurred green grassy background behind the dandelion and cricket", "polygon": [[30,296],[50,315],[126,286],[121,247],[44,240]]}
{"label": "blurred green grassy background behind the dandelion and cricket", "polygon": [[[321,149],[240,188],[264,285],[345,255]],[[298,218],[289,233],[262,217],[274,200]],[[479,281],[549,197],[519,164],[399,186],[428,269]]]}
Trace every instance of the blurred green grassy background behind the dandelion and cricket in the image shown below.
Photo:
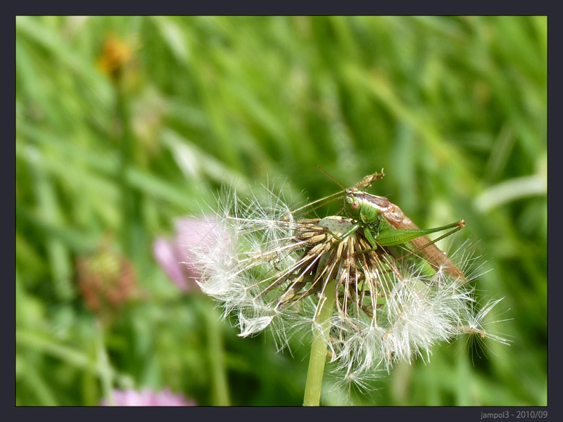
{"label": "blurred green grassy background behind the dandelion and cricket", "polygon": [[315,165],[345,186],[384,167],[369,191],[421,227],[465,219],[453,245],[474,241],[490,270],[477,297],[504,298],[486,329],[512,341],[438,345],[350,398],[327,377],[322,404],[547,405],[547,17],[18,16],[15,30],[16,405],[113,388],[301,405],[307,345],[237,337],[152,243],[222,182],[336,192]]}

